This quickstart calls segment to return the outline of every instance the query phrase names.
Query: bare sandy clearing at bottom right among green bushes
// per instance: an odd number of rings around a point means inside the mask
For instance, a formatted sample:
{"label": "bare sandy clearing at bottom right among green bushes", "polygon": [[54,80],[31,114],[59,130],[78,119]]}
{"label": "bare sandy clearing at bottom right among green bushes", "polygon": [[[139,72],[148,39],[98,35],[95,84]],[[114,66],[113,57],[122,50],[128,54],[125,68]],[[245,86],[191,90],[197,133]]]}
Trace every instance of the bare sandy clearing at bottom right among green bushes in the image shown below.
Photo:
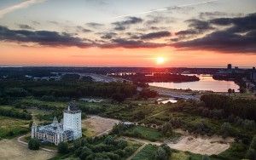
{"label": "bare sandy clearing at bottom right among green bushes", "polygon": [[181,137],[181,140],[177,141],[177,143],[168,143],[168,146],[180,151],[190,151],[202,155],[218,155],[219,153],[229,149],[230,143],[233,141],[234,140],[231,138],[224,140],[218,136],[195,137],[191,135],[184,135]]}

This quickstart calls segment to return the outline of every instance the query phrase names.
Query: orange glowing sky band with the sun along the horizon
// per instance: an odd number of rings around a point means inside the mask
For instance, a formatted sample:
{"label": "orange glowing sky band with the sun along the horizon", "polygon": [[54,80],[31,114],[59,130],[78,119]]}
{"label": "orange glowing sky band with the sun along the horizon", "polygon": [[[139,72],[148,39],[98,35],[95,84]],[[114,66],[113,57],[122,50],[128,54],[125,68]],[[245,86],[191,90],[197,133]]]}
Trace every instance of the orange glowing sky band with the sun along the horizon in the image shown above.
{"label": "orange glowing sky band with the sun along the horizon", "polygon": [[[161,66],[161,67],[251,67],[255,54],[224,54],[211,51],[157,49],[80,49],[76,47],[26,47],[0,43],[0,65],[10,66]],[[158,58],[160,58],[158,60]],[[164,60],[162,60],[162,58]],[[171,61],[172,60],[172,61]],[[157,63],[159,62],[159,63]]]}

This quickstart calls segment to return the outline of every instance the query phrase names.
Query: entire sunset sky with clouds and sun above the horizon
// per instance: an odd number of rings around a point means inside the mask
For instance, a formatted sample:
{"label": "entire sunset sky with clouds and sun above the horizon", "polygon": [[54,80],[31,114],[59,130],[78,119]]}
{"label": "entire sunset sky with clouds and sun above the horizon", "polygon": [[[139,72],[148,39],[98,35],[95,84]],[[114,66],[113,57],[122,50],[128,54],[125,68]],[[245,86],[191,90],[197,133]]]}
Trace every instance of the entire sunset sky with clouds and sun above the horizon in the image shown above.
{"label": "entire sunset sky with clouds and sun above the horizon", "polygon": [[1,0],[0,66],[256,66],[255,0]]}

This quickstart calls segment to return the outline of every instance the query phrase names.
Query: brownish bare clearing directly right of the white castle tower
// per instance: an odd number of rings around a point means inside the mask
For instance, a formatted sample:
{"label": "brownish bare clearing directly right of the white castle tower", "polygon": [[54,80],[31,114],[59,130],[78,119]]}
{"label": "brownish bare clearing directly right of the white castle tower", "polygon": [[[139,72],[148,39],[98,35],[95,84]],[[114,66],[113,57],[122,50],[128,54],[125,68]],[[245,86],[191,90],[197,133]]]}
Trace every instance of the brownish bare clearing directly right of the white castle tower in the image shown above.
{"label": "brownish bare clearing directly right of the white castle tower", "polygon": [[120,121],[117,119],[111,119],[107,117],[90,116],[82,121],[82,128],[89,129],[91,136],[96,136],[103,133],[108,133],[115,124]]}

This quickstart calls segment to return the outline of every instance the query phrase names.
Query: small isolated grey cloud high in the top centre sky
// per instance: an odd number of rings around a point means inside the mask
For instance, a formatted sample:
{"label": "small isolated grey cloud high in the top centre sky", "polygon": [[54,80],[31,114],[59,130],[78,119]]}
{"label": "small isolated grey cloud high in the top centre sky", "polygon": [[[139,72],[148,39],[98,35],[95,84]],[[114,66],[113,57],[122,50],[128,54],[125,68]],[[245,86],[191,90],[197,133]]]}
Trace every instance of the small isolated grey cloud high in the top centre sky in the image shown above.
{"label": "small isolated grey cloud high in the top centre sky", "polygon": [[114,30],[123,31],[127,26],[143,22],[143,19],[137,17],[128,17],[126,20],[113,22]]}

